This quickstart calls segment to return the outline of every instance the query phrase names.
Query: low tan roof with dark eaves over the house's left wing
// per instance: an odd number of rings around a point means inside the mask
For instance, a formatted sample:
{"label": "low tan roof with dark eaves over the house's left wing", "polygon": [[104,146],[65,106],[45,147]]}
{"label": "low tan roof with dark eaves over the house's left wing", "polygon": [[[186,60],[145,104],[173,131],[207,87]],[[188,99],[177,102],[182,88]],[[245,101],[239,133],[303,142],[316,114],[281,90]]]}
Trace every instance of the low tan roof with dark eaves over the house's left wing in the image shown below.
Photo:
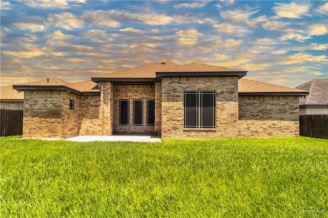
{"label": "low tan roof with dark eaves over the house's left wing", "polygon": [[23,84],[13,85],[16,90],[63,90],[76,95],[99,95],[100,90],[96,88],[97,83],[87,80],[78,83],[69,83],[62,79],[50,78],[49,81],[38,80]]}

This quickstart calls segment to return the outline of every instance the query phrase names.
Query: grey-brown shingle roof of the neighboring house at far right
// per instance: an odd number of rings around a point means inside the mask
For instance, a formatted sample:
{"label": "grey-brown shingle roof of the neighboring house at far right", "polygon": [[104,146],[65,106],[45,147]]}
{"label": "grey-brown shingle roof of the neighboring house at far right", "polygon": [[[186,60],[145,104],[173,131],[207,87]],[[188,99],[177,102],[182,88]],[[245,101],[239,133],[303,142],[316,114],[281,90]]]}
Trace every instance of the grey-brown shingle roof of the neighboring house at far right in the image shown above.
{"label": "grey-brown shingle roof of the neighboring house at far right", "polygon": [[312,79],[296,87],[310,92],[305,98],[299,99],[300,106],[328,107],[328,78]]}

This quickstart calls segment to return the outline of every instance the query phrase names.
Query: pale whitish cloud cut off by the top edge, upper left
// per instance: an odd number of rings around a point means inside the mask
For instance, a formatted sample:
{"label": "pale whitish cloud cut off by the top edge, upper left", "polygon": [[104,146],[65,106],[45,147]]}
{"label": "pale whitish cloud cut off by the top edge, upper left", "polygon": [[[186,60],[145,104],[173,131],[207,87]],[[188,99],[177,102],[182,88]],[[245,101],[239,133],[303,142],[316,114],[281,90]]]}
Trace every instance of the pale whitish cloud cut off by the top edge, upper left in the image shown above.
{"label": "pale whitish cloud cut off by the top edge, upper left", "polygon": [[42,9],[66,9],[70,8],[69,3],[86,3],[84,0],[38,0],[38,1],[23,1],[25,5],[30,8],[42,8]]}

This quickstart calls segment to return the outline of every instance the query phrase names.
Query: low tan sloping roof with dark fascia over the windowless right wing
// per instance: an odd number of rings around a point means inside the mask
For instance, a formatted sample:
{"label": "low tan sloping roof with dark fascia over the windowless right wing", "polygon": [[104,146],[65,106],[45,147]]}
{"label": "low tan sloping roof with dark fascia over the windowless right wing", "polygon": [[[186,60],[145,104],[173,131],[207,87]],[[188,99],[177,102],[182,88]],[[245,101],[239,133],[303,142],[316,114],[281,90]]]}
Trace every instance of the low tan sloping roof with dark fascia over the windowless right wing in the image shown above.
{"label": "low tan sloping roof with dark fascia over the windowless right wing", "polygon": [[249,95],[308,95],[309,92],[299,89],[288,88],[281,85],[274,85],[265,82],[259,82],[251,79],[238,80],[238,94],[240,96]]}

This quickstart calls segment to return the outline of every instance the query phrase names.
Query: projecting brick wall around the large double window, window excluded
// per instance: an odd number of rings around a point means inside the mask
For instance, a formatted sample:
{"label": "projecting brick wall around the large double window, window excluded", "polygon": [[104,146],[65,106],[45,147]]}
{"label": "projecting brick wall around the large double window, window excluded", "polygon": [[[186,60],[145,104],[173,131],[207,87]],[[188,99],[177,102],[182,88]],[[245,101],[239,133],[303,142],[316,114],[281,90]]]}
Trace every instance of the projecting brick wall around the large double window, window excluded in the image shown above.
{"label": "projecting brick wall around the large double window, window excluded", "polygon": [[[183,92],[216,91],[216,128],[183,128]],[[237,137],[238,77],[163,77],[162,138]]]}

